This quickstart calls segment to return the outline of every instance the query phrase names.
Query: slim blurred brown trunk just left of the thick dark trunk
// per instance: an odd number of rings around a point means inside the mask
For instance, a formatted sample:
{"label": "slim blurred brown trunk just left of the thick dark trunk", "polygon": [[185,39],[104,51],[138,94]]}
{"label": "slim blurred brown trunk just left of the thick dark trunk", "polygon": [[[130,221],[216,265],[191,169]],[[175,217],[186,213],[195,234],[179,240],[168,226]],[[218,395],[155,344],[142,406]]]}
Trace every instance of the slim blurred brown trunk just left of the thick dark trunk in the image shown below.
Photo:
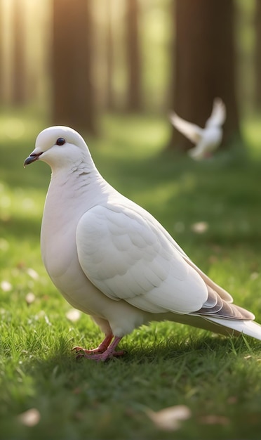
{"label": "slim blurred brown trunk just left of the thick dark trunk", "polygon": [[138,111],[142,107],[138,16],[138,0],[126,0],[126,54],[128,77],[126,109],[131,112]]}

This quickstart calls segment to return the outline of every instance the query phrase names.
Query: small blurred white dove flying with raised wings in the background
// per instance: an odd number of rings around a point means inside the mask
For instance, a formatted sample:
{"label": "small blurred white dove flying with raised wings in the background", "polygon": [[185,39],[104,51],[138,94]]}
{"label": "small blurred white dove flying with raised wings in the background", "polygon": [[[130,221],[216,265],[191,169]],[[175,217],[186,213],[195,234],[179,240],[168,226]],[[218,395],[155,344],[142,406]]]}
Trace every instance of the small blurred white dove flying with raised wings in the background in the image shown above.
{"label": "small blurred white dove flying with raised wings in the background", "polygon": [[170,122],[184,134],[189,141],[196,144],[196,147],[188,150],[188,154],[194,160],[201,160],[209,157],[217,149],[222,141],[222,124],[226,119],[225,104],[220,98],[215,98],[210,117],[203,129],[196,124],[185,121],[175,112],[170,114]]}

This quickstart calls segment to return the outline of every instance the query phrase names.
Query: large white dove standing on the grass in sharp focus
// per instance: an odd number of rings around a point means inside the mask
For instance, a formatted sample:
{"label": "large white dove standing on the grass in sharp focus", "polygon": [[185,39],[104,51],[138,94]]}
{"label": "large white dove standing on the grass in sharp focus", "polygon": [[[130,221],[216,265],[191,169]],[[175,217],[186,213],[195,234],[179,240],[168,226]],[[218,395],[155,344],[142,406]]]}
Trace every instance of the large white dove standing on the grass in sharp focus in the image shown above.
{"label": "large white dove standing on the grass in sharp focus", "polygon": [[115,350],[121,338],[149,321],[261,339],[253,313],[232,304],[151,214],[102,178],[76,131],[41,131],[25,165],[36,160],[52,169],[41,225],[46,271],[105,333],[97,349],[74,347],[80,356],[123,354]]}

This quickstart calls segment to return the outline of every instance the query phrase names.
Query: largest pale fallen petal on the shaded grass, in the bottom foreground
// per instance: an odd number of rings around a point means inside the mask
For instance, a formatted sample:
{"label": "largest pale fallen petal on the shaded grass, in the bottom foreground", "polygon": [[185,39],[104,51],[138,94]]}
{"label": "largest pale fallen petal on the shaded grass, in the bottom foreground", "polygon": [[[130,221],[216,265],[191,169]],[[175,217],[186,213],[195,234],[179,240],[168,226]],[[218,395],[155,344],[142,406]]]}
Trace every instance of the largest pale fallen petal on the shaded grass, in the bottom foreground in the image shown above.
{"label": "largest pale fallen petal on the shaded grass, in the bottom foreground", "polygon": [[149,409],[146,413],[154,425],[164,431],[180,429],[180,422],[189,419],[192,415],[190,409],[185,405],[170,406],[158,412]]}

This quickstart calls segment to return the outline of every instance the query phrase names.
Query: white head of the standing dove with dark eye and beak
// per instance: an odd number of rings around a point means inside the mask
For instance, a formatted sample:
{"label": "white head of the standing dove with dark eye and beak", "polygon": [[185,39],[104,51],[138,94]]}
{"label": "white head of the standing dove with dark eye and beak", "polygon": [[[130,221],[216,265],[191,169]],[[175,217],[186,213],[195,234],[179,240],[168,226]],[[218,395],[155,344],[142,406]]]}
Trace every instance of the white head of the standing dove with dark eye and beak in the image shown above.
{"label": "white head of the standing dove with dark eye and beak", "polygon": [[90,162],[91,155],[81,135],[69,127],[49,127],[36,138],[34,151],[25,159],[24,166],[42,160],[51,168],[74,167]]}

